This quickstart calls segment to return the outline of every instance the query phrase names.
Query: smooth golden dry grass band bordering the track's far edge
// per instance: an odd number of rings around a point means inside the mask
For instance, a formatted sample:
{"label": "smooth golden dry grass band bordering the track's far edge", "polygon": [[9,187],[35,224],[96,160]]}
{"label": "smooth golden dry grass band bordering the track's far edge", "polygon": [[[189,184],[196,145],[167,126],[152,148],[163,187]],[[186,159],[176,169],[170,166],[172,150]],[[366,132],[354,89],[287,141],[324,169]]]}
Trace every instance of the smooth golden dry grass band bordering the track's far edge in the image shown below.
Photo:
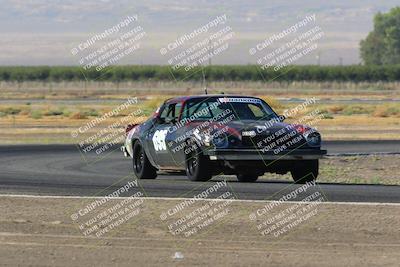
{"label": "smooth golden dry grass band bordering the track's far edge", "polygon": [[[145,116],[135,119],[144,121]],[[76,143],[71,132],[86,124],[91,118],[71,118],[62,116],[32,119],[27,116],[0,119],[0,143]],[[110,118],[104,127],[119,120]],[[290,122],[291,120],[288,120]],[[60,127],[62,125],[62,128]],[[331,120],[321,120],[315,125],[325,140],[399,140],[400,121],[393,117],[369,117],[365,115],[335,116]],[[100,128],[93,128],[94,134]]]}

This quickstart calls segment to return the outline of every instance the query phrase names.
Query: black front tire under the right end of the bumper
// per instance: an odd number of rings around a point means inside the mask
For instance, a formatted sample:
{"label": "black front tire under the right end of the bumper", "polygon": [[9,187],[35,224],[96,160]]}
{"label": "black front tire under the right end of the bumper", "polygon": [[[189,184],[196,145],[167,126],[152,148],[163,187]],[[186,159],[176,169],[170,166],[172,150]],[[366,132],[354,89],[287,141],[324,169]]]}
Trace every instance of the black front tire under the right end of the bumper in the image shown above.
{"label": "black front tire under the right end of the bumper", "polygon": [[318,160],[302,160],[296,162],[290,171],[293,180],[297,184],[312,182],[318,177],[319,162]]}

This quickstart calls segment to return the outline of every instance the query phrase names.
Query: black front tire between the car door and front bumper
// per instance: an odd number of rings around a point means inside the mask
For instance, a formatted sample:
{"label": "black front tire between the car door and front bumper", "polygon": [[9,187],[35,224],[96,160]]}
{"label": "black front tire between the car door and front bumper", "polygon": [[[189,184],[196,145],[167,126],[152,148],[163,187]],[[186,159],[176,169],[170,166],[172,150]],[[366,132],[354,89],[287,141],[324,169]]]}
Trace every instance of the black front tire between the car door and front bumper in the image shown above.
{"label": "black front tire between the car door and front bumper", "polygon": [[197,148],[196,144],[186,147],[185,169],[186,176],[191,181],[205,182],[212,178],[212,166],[210,160]]}

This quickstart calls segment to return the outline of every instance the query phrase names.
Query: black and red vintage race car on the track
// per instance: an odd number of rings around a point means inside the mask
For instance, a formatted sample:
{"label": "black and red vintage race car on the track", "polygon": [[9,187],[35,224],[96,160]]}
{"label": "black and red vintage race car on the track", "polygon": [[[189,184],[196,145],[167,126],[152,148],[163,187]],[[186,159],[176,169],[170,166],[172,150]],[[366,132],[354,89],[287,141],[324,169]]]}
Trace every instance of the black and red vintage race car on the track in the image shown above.
{"label": "black and red vintage race car on the track", "polygon": [[132,158],[138,179],[154,179],[163,170],[185,171],[192,181],[226,174],[255,182],[266,172],[313,181],[326,154],[321,135],[285,119],[257,97],[176,97],[145,122],[128,125],[121,150]]}

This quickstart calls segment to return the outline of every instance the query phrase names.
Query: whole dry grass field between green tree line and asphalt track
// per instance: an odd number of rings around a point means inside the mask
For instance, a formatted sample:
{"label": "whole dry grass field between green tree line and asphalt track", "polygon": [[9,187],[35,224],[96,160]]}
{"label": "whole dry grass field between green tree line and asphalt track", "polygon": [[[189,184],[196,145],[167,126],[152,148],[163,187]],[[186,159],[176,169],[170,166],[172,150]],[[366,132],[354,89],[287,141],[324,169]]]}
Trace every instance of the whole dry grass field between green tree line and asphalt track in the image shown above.
{"label": "whole dry grass field between green tree line and asphalt track", "polygon": [[[221,91],[238,94],[258,95],[266,100],[278,113],[291,109],[298,103],[287,104],[277,98],[307,98],[321,99],[385,99],[397,97],[400,92],[398,84],[375,84],[369,88],[366,85],[316,84],[316,83],[241,83],[226,82],[210,84],[210,93]],[[193,83],[0,83],[3,90],[0,99],[21,98],[18,104],[0,104],[0,143],[36,142],[43,140],[51,142],[74,143],[69,133],[87,121],[113,110],[128,96],[138,96],[139,103],[121,112],[126,116],[134,109],[142,110],[138,119],[144,120],[167,98],[176,95],[190,95],[198,91],[198,84]],[[282,86],[282,88],[279,88]],[[298,86],[294,88],[294,86]],[[324,87],[325,86],[325,87]],[[375,86],[375,87],[374,87]],[[382,90],[386,86],[386,90]],[[309,87],[309,88],[305,88]],[[83,88],[83,90],[82,90]],[[213,89],[218,88],[218,89]],[[302,89],[303,88],[303,89]],[[305,88],[305,89],[304,89]],[[378,90],[378,88],[381,88]],[[225,90],[226,89],[226,90]],[[346,91],[348,90],[348,91]],[[250,93],[249,93],[250,92]],[[31,101],[39,99],[93,99],[90,104],[79,101],[66,101],[58,105],[51,100],[44,102]],[[107,102],[106,99],[110,99]],[[114,99],[112,101],[112,99]],[[96,102],[96,100],[102,100]],[[400,103],[391,104],[316,104],[309,106],[288,119],[296,121],[307,113],[318,109],[324,119],[316,126],[325,139],[400,139]],[[113,123],[118,117],[111,118],[106,123]],[[60,126],[67,129],[60,131]],[[30,134],[26,134],[30,132]],[[42,134],[42,135],[41,135]],[[35,136],[35,138],[32,138]]]}

